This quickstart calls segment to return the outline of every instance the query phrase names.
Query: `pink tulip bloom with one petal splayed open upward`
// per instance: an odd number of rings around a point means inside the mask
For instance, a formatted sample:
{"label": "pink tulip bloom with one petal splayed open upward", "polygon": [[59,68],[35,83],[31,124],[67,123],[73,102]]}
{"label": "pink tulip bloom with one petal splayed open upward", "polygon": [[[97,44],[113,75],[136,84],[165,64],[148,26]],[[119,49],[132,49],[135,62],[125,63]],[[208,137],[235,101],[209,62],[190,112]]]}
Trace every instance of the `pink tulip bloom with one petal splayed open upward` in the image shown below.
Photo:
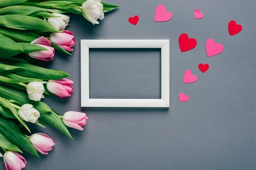
{"label": "pink tulip bloom with one petal splayed open upward", "polygon": [[36,44],[40,45],[41,47],[46,48],[47,50],[42,50],[42,51],[35,51],[32,53],[28,53],[30,57],[35,58],[35,59],[41,59],[44,61],[50,61],[53,59],[55,51],[54,48],[50,47],[51,42],[47,40],[44,36],[35,39],[34,41],[31,42],[31,44]]}

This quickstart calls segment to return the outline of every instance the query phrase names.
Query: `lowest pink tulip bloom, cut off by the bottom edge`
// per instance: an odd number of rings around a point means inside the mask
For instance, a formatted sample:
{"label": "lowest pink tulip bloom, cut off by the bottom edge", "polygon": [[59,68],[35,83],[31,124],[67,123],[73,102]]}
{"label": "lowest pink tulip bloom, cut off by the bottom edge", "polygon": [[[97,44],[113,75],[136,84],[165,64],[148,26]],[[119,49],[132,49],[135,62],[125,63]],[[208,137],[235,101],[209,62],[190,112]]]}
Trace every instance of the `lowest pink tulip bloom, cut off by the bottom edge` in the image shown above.
{"label": "lowest pink tulip bloom, cut off by the bottom edge", "polygon": [[26,159],[20,153],[11,150],[3,155],[3,160],[6,170],[21,170],[26,167]]}

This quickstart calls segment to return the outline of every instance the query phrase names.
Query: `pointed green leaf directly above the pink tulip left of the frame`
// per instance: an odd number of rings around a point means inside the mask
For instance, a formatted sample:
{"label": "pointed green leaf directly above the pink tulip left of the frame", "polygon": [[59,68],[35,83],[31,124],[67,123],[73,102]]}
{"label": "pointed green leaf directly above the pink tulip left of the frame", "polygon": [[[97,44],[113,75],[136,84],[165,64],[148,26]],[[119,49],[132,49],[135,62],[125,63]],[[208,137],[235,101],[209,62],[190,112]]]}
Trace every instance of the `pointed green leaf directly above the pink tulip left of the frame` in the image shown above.
{"label": "pointed green leaf directly above the pink tulip left of the frame", "polygon": [[[3,63],[10,64],[8,62],[3,62]],[[30,65],[30,64],[20,63],[20,62],[12,62],[12,65],[26,68],[25,70],[15,72],[15,74],[18,74],[23,77],[31,77],[31,78],[37,78],[42,80],[50,80],[50,79],[56,80],[56,79],[63,79],[65,77],[70,76],[64,71],[51,70],[51,69],[42,68],[35,65]]]}

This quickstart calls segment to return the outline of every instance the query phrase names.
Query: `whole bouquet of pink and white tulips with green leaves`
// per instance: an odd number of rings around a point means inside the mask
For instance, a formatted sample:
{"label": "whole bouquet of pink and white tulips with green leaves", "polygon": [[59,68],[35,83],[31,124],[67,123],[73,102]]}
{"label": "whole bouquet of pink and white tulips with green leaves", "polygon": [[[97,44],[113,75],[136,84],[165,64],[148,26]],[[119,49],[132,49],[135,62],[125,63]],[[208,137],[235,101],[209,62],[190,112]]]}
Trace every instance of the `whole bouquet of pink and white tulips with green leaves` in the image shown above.
{"label": "whole bouquet of pink and white tulips with green leaves", "polygon": [[6,170],[26,167],[23,151],[38,156],[55,145],[44,133],[30,134],[29,124],[52,126],[70,137],[67,127],[83,130],[85,113],[62,116],[41,101],[45,96],[69,97],[70,75],[37,66],[54,59],[55,50],[71,55],[75,35],[65,28],[70,17],[83,15],[99,24],[104,12],[118,6],[101,0],[0,0],[0,147]]}

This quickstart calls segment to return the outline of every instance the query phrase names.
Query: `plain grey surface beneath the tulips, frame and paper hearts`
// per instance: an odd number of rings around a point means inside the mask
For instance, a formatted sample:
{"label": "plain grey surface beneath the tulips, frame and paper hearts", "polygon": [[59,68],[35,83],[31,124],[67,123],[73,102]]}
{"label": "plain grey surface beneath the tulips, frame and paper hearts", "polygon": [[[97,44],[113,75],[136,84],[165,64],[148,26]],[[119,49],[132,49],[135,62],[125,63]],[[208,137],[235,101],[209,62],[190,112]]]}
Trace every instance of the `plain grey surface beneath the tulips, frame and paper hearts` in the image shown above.
{"label": "plain grey surface beneath the tulips, frame and paper hearts", "polygon": [[[33,132],[47,133],[56,145],[41,159],[25,153],[26,170],[255,170],[256,1],[105,2],[121,7],[106,14],[97,26],[82,16],[70,15],[67,29],[76,34],[72,57],[58,53],[52,62],[40,62],[72,75],[75,91],[70,98],[44,101],[61,114],[70,110],[87,113],[85,130],[70,129],[71,140],[54,128],[35,127]],[[159,4],[172,12],[172,20],[154,22]],[[195,9],[204,12],[203,19],[194,19]],[[128,23],[134,15],[140,17],[137,26]],[[243,31],[230,36],[230,20],[241,24]],[[182,33],[196,38],[195,49],[180,52]],[[209,38],[224,45],[221,54],[207,57]],[[81,108],[80,39],[170,39],[170,108]],[[160,54],[131,52],[120,51],[120,56],[115,50],[106,55],[91,52],[90,59],[95,57],[90,62],[91,95],[160,97]],[[199,63],[208,63],[209,70],[201,73]],[[195,83],[183,83],[186,69],[198,77]],[[188,102],[179,102],[180,92],[189,96]]]}

